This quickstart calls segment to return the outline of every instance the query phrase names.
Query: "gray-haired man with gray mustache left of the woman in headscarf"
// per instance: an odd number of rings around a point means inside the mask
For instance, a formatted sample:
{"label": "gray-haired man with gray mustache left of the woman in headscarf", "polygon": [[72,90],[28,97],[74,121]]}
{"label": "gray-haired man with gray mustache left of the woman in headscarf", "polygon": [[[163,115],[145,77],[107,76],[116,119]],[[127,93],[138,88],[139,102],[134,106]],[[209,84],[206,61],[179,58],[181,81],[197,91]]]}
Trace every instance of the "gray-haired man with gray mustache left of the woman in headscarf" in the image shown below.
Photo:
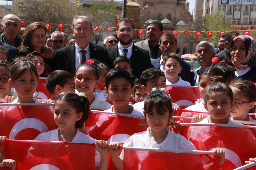
{"label": "gray-haired man with gray mustache left of the woman in headscarf", "polygon": [[198,86],[199,75],[197,70],[202,67],[213,67],[212,58],[215,56],[214,46],[208,41],[201,41],[196,46],[196,57],[200,67],[191,71],[191,85]]}

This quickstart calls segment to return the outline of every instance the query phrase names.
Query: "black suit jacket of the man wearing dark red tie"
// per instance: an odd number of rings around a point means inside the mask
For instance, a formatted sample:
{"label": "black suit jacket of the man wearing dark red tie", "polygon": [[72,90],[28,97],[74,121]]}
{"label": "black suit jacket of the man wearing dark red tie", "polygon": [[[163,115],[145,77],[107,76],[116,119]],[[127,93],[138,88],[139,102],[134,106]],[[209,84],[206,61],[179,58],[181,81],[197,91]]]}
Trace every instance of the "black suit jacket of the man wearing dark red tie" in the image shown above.
{"label": "black suit jacket of the man wearing dark red tie", "polygon": [[[56,51],[56,56],[53,59],[53,70],[65,70],[73,76],[76,75],[76,54],[75,44],[61,48]],[[89,43],[90,58],[95,58],[101,63],[105,63],[110,68],[113,68],[113,62],[108,56],[107,50],[103,46]]]}

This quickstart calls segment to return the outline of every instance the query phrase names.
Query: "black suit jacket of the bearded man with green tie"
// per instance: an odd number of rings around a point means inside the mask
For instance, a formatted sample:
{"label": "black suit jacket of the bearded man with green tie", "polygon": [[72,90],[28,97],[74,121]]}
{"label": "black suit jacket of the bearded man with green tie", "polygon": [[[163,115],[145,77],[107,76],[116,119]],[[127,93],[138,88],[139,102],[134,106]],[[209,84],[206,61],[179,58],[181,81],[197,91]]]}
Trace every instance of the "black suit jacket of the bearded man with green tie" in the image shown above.
{"label": "black suit jacket of the bearded man with green tie", "polygon": [[[118,44],[107,48],[108,55],[114,63],[115,59],[119,57]],[[148,68],[153,67],[150,61],[148,50],[132,45],[132,55],[130,58],[132,62],[132,75],[140,78],[142,72]]]}

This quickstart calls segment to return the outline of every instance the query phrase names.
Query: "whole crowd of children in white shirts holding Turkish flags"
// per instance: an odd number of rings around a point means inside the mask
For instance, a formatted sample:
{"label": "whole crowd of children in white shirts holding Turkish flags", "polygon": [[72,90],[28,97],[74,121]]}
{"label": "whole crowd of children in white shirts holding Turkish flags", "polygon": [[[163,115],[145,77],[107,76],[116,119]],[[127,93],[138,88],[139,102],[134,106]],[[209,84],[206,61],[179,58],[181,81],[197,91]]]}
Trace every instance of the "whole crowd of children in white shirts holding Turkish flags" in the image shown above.
{"label": "whole crowd of children in white shirts holding Turkish flags", "polygon": [[[33,52],[26,57],[15,58],[12,63],[0,61],[0,98],[7,103],[41,103],[37,98],[51,99],[43,101],[45,103],[55,100],[53,107],[57,129],[41,133],[34,140],[93,143],[96,148],[95,167],[108,169],[109,153],[119,170],[123,169],[123,146],[196,150],[191,136],[197,132],[193,127],[188,129],[186,139],[167,126],[173,122],[172,116],[180,107],[172,103],[170,94],[164,92],[166,85],[190,86],[178,76],[182,70],[181,58],[174,53],[166,54],[163,70],[166,77],[162,70],[150,68],[143,71],[139,80],[131,74],[132,63],[127,57],[117,57],[112,70],[104,63],[92,59],[77,67],[74,77],[67,71],[53,71],[44,85],[39,80],[44,71],[44,56]],[[235,78],[233,63],[225,60],[212,68],[201,68],[197,73],[202,98],[186,109],[208,112],[209,115],[194,115],[192,123],[241,125],[234,120],[255,121],[248,113],[255,112],[256,87],[248,80]],[[49,93],[45,94],[47,98],[39,97],[39,89]],[[93,139],[85,135],[83,130],[80,131],[90,108],[143,116],[149,127],[146,131],[132,135],[124,144]],[[4,139],[5,136],[0,137],[3,165],[13,167],[16,162],[5,158],[3,152],[1,142]],[[217,147],[212,151],[220,156],[222,165],[225,152]],[[256,162],[255,159],[245,163]]]}

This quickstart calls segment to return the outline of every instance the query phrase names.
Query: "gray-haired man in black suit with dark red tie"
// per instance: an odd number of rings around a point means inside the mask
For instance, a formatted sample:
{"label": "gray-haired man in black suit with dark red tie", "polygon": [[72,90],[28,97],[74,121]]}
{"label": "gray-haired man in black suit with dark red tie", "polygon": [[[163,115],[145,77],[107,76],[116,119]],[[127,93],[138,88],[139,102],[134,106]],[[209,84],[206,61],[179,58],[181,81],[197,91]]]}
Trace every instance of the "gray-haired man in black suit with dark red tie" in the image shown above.
{"label": "gray-haired man in black suit with dark red tie", "polygon": [[82,63],[94,58],[113,68],[113,62],[108,56],[105,47],[89,42],[92,36],[92,21],[86,16],[76,16],[72,22],[73,36],[76,43],[56,51],[52,68],[54,70],[65,70],[73,76]]}

